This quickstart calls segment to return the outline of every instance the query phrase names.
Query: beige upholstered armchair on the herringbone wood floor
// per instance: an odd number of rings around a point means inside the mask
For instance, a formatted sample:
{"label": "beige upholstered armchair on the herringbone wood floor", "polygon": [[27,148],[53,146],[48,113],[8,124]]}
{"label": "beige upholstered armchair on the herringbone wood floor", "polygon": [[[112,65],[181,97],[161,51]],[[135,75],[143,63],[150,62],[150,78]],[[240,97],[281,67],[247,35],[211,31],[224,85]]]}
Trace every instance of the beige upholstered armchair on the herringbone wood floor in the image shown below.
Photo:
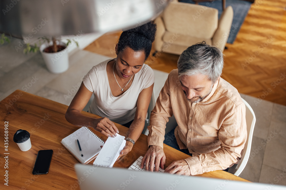
{"label": "beige upholstered armchair on the herringbone wood floor", "polygon": [[180,55],[186,48],[206,41],[222,51],[233,20],[233,9],[227,7],[218,20],[218,10],[202,5],[172,1],[155,19],[156,51]]}

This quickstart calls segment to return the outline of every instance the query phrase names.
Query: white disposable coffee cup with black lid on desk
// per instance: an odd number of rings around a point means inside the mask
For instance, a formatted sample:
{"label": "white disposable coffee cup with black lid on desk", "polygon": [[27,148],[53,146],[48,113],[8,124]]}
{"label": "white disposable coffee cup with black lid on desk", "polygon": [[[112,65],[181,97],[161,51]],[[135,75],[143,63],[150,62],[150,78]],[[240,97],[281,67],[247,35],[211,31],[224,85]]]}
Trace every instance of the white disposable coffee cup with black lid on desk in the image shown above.
{"label": "white disposable coffee cup with black lid on desk", "polygon": [[30,133],[26,130],[19,129],[14,134],[13,141],[17,143],[20,150],[27,151],[32,147],[30,140]]}

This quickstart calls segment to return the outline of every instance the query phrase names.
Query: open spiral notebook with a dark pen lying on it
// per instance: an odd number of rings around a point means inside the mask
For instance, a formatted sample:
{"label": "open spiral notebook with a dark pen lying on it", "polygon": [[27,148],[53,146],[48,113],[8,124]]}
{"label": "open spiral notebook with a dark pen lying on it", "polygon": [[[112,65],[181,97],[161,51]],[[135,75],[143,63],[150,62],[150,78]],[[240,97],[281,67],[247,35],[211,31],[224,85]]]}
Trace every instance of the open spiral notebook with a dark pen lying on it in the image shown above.
{"label": "open spiral notebook with a dark pen lying on it", "polygon": [[[80,142],[81,153],[77,140]],[[101,150],[100,146],[103,146],[104,142],[89,128],[81,127],[69,136],[63,138],[61,144],[72,153],[78,161],[82,164],[87,164],[98,155]],[[81,156],[81,154],[83,154],[83,156]]]}

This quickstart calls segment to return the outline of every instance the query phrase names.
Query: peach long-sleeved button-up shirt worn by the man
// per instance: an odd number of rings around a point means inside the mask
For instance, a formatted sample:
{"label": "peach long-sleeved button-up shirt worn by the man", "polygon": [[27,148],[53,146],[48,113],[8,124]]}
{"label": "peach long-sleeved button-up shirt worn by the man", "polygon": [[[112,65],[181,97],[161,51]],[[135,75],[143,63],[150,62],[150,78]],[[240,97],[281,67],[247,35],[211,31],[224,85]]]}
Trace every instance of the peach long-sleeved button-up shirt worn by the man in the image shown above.
{"label": "peach long-sleeved button-up shirt worn by the man", "polygon": [[190,174],[226,169],[241,157],[247,139],[245,104],[237,89],[222,78],[211,93],[198,103],[190,103],[172,70],[151,112],[148,146],[163,148],[166,123],[174,117],[175,137],[180,149],[188,149]]}

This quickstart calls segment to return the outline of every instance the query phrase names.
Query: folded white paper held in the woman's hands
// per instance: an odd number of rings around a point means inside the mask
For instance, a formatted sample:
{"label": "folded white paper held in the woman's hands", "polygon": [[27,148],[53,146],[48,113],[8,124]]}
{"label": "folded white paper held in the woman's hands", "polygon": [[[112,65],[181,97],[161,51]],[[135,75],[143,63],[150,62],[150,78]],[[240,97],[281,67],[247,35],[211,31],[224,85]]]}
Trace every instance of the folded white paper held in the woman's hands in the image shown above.
{"label": "folded white paper held in the woman's hands", "polygon": [[94,160],[94,166],[112,167],[117,160],[120,151],[124,148],[126,140],[124,136],[116,134],[116,137],[108,137],[98,156]]}

